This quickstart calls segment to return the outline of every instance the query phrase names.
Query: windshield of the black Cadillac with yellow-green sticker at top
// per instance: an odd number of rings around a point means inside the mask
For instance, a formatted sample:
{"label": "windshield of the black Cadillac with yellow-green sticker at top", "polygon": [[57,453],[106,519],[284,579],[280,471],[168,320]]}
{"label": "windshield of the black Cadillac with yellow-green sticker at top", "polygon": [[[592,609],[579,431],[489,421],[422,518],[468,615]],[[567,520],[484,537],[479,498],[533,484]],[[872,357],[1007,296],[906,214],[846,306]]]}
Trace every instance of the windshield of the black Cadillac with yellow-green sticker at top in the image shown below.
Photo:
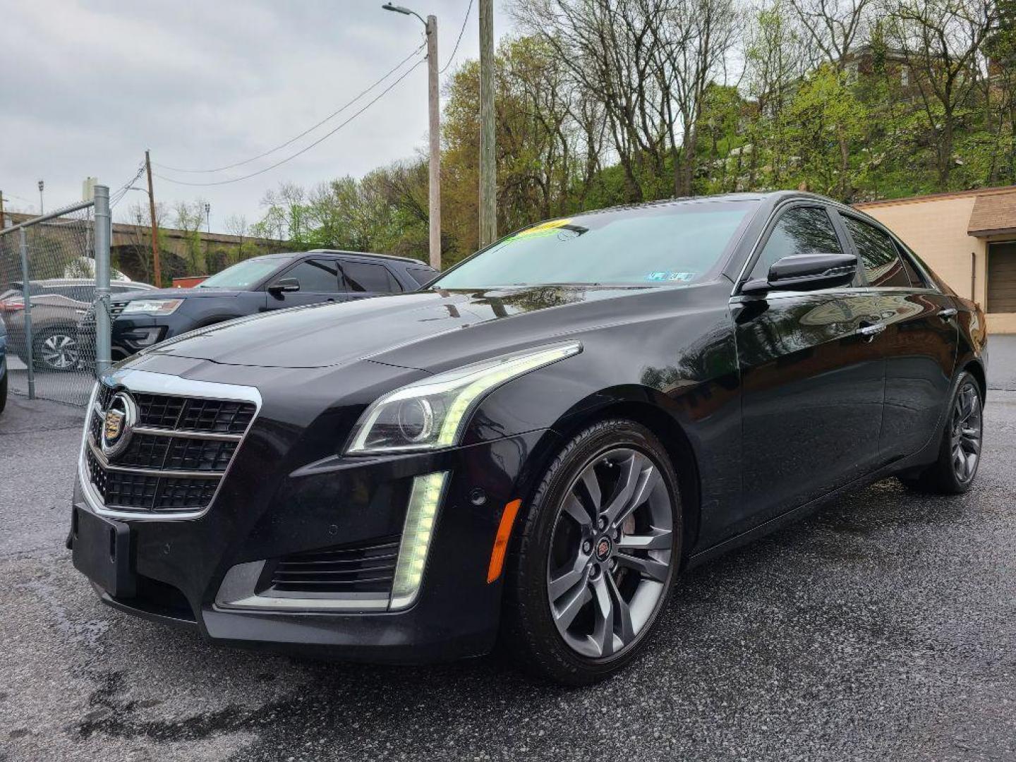
{"label": "windshield of the black Cadillac with yellow-green sticker at top", "polygon": [[431,284],[687,285],[720,263],[756,201],[703,201],[552,219],[508,236]]}

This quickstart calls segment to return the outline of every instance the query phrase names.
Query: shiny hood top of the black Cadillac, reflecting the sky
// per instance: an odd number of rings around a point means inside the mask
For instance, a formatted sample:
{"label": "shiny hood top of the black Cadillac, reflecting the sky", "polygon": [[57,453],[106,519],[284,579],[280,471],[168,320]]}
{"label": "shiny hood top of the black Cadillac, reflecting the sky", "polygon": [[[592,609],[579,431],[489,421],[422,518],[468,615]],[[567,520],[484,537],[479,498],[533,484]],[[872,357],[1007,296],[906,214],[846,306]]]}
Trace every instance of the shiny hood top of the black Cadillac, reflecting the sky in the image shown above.
{"label": "shiny hood top of the black Cadillac, reflecting the sky", "polygon": [[144,354],[264,368],[374,360],[427,370],[445,357],[489,355],[491,348],[602,324],[605,314],[613,313],[615,319],[619,314],[617,307],[605,312],[608,302],[643,291],[539,287],[377,297],[241,318],[170,339]]}

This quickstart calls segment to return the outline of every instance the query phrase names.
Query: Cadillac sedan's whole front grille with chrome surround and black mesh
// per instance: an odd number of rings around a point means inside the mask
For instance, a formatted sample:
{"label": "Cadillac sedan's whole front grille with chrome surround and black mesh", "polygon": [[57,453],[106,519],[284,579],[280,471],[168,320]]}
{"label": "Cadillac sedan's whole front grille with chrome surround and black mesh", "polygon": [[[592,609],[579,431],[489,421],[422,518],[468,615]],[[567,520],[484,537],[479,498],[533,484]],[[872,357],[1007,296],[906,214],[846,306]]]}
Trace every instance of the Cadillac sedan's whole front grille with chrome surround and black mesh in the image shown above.
{"label": "Cadillac sedan's whole front grille with chrome surround and black mesh", "polygon": [[[120,389],[144,401],[132,441],[110,460],[96,435],[105,406]],[[168,414],[173,408],[175,417]],[[102,516],[128,520],[203,516],[260,410],[261,394],[252,386],[131,369],[107,373],[92,389],[81,437],[78,481],[88,506]],[[182,428],[184,423],[193,428]],[[147,505],[113,502],[125,496]]]}

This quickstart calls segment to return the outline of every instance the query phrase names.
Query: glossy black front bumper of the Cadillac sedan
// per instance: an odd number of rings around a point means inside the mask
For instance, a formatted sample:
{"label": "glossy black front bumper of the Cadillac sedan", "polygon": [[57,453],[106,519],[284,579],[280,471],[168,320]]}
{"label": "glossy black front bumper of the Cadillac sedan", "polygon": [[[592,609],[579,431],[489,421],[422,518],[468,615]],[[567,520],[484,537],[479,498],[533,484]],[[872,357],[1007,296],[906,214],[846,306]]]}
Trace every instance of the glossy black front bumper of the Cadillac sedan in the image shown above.
{"label": "glossy black front bumper of the Cadillac sedan", "polygon": [[[424,663],[485,653],[499,621],[501,580],[487,582],[502,510],[522,496],[523,464],[554,447],[534,431],[451,450],[390,457],[326,457],[270,475],[278,441],[255,424],[214,503],[192,520],[132,520],[136,589],[102,599],[209,641],[351,660]],[[232,608],[231,569],[402,531],[412,480],[447,471],[419,596],[405,611],[255,611]],[[481,500],[483,498],[483,500]],[[94,513],[80,480],[74,510]],[[73,532],[72,532],[73,534]],[[80,539],[72,542],[80,543]],[[75,548],[75,552],[85,549]],[[92,580],[93,584],[96,580]]]}

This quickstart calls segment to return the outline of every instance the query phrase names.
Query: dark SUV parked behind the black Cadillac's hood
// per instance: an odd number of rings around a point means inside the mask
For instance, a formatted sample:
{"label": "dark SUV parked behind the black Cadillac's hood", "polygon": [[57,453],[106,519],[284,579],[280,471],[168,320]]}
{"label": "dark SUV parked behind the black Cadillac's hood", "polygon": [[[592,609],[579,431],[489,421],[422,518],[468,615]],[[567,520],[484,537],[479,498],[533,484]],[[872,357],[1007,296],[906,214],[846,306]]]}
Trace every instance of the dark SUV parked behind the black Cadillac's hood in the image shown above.
{"label": "dark SUV parked behind the black Cadillac's hood", "polygon": [[193,289],[114,298],[113,359],[194,328],[259,312],[416,291],[437,274],[417,259],[385,254],[315,249],[253,257]]}

